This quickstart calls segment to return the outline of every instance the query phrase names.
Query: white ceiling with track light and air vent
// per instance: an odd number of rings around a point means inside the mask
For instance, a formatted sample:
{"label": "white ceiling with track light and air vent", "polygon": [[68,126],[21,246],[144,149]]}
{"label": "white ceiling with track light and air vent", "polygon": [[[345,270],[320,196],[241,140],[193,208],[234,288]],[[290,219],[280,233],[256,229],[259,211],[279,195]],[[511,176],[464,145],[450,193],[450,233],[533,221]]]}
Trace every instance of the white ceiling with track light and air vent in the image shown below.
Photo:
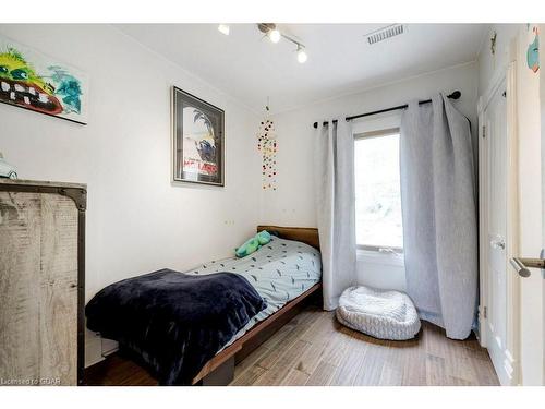
{"label": "white ceiling with track light and air vent", "polygon": [[271,44],[254,24],[119,24],[117,27],[254,110],[267,96],[274,112],[474,61],[482,24],[408,24],[405,33],[367,45],[364,35],[387,24],[283,24],[305,46]]}

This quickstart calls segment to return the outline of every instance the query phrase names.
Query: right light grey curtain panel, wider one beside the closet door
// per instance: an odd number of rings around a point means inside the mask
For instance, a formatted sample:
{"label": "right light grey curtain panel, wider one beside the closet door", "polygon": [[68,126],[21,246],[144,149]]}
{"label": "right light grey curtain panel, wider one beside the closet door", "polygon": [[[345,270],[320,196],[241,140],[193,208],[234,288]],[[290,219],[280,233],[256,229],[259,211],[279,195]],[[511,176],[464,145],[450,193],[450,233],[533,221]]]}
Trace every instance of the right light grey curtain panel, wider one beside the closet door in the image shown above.
{"label": "right light grey curtain panel, wider one beside the closet door", "polygon": [[475,173],[470,124],[444,95],[401,120],[407,288],[421,317],[467,338],[477,302]]}

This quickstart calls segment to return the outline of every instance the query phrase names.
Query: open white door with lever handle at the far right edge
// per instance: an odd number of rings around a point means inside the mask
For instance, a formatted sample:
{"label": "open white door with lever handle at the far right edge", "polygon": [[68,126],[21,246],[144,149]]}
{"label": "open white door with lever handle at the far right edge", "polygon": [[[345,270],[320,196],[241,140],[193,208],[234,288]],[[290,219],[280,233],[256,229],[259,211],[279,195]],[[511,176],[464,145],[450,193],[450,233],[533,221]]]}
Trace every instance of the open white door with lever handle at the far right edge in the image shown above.
{"label": "open white door with lever handle at the far right edge", "polygon": [[[525,24],[518,41],[518,120],[519,120],[519,222],[521,256],[538,257],[542,241],[541,190],[541,111],[540,71],[528,68],[526,48],[531,36]],[[533,38],[532,38],[533,39]],[[545,385],[543,378],[544,320],[541,272],[521,280],[521,364],[524,385]]]}

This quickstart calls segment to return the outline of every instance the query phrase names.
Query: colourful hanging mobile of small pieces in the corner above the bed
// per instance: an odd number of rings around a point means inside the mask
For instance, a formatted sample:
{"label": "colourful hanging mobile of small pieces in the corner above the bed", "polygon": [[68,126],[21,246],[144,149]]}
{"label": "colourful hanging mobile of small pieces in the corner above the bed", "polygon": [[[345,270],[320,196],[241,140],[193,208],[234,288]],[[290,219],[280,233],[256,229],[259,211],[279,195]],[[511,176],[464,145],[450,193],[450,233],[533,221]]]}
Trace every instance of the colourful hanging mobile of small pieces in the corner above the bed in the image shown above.
{"label": "colourful hanging mobile of small pieces in the corner above the bed", "polygon": [[275,123],[265,119],[259,124],[257,132],[257,149],[262,153],[262,188],[264,190],[277,189],[277,153]]}

